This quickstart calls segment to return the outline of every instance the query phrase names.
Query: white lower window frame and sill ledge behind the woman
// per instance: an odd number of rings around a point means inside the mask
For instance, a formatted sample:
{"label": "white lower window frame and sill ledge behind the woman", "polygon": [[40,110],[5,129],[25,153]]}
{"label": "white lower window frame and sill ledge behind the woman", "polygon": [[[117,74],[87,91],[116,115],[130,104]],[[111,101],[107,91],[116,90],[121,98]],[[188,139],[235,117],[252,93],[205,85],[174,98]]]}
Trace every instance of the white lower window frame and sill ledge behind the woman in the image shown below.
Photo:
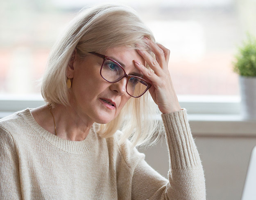
{"label": "white lower window frame and sill ledge behind the woman", "polygon": [[[240,98],[230,96],[178,96],[188,111],[194,136],[256,137],[256,121],[240,116]],[[189,101],[188,101],[189,100]],[[0,118],[27,107],[45,104],[40,95],[1,96]]]}

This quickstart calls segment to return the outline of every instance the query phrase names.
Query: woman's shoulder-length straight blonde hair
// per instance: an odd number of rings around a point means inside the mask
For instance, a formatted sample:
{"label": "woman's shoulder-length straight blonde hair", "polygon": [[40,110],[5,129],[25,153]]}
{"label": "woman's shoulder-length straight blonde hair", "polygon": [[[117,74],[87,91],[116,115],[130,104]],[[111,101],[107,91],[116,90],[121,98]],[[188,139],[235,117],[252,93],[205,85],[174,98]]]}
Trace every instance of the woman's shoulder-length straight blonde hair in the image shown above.
{"label": "woman's shoulder-length straight blonde hair", "polygon": [[[145,36],[155,41],[152,32],[130,7],[103,4],[82,9],[50,52],[41,86],[45,102],[53,106],[54,104],[70,105],[66,71],[75,49],[80,58],[84,58],[91,51],[103,53],[111,47],[121,46],[145,49],[154,57],[143,40]],[[155,144],[158,137],[155,138],[154,133],[158,131],[161,121],[153,119],[157,114],[159,110],[147,91],[140,98],[130,98],[114,120],[107,124],[94,124],[94,127],[104,138],[113,136],[120,129],[122,131],[120,144],[127,139],[131,141],[133,147]]]}

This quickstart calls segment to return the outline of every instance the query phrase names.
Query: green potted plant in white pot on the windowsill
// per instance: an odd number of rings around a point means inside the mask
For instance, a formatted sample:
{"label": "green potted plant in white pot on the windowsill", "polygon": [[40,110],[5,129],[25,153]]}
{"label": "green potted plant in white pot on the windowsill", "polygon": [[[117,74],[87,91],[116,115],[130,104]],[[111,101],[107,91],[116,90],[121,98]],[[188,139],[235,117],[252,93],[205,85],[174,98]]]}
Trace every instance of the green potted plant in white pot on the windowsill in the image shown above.
{"label": "green potted plant in white pot on the windowsill", "polygon": [[247,34],[239,48],[234,71],[238,73],[241,94],[241,113],[245,120],[256,120],[256,38]]}

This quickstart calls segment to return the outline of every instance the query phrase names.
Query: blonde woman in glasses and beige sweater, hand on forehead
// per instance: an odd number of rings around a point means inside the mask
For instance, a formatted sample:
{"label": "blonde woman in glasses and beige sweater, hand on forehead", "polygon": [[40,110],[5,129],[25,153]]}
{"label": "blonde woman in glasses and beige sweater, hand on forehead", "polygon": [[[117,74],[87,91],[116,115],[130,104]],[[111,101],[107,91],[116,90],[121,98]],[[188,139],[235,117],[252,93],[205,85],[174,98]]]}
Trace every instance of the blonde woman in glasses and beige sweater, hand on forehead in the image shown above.
{"label": "blonde woman in glasses and beige sweater, hand on forehead", "polygon": [[[0,198],[205,199],[169,55],[132,9],[81,11],[50,53],[41,88],[47,104],[0,121]],[[168,180],[135,148],[158,125],[150,96],[162,113]]]}

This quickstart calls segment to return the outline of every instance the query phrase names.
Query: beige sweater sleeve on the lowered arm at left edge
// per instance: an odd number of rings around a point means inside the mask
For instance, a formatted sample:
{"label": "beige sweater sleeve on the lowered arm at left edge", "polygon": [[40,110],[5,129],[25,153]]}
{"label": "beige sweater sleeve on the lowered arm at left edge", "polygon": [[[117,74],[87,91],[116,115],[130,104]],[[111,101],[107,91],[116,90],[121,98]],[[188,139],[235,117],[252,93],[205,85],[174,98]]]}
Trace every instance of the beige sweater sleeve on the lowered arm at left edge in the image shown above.
{"label": "beige sweater sleeve on the lowered arm at left edge", "polygon": [[0,199],[22,199],[18,156],[11,134],[0,127]]}

